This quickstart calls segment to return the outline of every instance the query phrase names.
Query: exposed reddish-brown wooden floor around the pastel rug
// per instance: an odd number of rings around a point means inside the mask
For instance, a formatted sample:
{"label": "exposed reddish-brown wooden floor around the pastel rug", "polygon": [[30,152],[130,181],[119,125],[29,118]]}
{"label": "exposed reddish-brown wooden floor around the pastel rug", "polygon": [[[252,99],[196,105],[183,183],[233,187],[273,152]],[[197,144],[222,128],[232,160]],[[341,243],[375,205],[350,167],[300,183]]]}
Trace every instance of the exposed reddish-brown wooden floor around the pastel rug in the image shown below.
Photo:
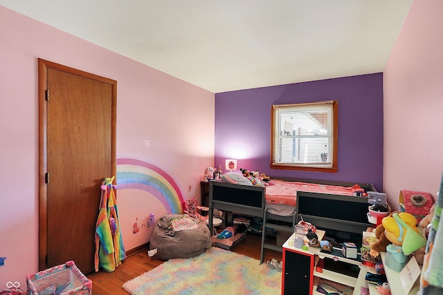
{"label": "exposed reddish-brown wooden floor around the pastel rug", "polygon": [[[261,236],[248,234],[246,239],[231,249],[231,251],[260,260],[260,242]],[[267,240],[266,242],[273,241]],[[282,253],[265,249],[264,263],[272,258],[281,261]],[[154,267],[161,265],[161,263],[163,263],[162,260],[152,259],[147,256],[147,249],[145,249],[127,257],[123,260],[123,264],[117,267],[114,272],[103,272],[100,270],[96,273],[87,274],[87,278],[92,280],[92,292],[94,295],[127,295],[128,293],[122,287],[123,283],[150,271]]]}

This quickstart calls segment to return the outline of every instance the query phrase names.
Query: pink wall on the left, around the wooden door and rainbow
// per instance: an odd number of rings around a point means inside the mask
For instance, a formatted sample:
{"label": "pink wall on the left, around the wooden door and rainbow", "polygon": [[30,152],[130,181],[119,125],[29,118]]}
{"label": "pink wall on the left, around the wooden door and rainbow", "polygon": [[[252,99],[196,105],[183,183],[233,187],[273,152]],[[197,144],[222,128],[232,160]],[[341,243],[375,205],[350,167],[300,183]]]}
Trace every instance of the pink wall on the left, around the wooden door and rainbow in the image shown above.
{"label": "pink wall on the left, around the wooden door and rainbow", "polygon": [[[118,81],[117,158],[159,167],[185,199],[199,196],[213,165],[213,93],[0,6],[0,289],[26,289],[38,268],[37,58]],[[126,249],[147,242],[152,228],[132,234],[134,220],[164,208],[134,189],[118,191],[118,202]]]}

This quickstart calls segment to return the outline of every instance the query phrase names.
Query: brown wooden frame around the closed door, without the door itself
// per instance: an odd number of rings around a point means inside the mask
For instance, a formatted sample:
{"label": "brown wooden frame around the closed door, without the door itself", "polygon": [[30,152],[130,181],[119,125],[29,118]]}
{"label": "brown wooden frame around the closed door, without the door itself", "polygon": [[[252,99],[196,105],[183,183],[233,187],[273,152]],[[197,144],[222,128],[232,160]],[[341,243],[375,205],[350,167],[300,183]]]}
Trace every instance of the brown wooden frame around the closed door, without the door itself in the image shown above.
{"label": "brown wooden frame around the closed door, without the door itself", "polygon": [[[112,110],[111,110],[111,170],[116,175],[116,126],[117,126],[117,82],[116,80],[101,77],[91,73],[56,64],[45,59],[38,59],[38,99],[39,99],[39,270],[47,269],[48,255],[48,187],[46,172],[48,171],[48,104],[46,90],[48,85],[48,68],[60,70],[64,73],[93,79],[111,85]],[[114,179],[116,183],[116,179]],[[97,209],[98,210],[98,209]]]}

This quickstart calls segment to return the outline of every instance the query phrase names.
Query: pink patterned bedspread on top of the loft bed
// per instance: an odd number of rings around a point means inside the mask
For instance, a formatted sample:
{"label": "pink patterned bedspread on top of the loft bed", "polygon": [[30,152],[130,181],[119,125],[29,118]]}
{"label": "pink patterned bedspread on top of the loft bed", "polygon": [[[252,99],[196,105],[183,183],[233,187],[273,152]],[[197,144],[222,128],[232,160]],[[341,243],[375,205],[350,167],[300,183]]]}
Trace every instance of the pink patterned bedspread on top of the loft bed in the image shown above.
{"label": "pink patterned bedspread on top of the loft bed", "polygon": [[336,185],[316,184],[307,182],[284,182],[272,180],[274,185],[266,187],[266,202],[271,204],[296,205],[297,191],[311,193],[330,193],[332,195],[352,196],[354,193],[364,190],[355,184],[353,187],[338,187]]}

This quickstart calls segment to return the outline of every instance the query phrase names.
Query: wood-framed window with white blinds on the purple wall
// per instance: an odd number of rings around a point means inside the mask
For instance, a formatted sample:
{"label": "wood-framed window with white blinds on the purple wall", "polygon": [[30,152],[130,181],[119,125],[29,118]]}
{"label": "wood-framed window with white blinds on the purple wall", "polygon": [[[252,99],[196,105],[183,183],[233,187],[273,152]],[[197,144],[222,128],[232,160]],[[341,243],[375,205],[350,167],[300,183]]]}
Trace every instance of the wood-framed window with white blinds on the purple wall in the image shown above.
{"label": "wood-framed window with white blinds on the purple wall", "polygon": [[271,168],[337,171],[338,101],[272,106]]}

